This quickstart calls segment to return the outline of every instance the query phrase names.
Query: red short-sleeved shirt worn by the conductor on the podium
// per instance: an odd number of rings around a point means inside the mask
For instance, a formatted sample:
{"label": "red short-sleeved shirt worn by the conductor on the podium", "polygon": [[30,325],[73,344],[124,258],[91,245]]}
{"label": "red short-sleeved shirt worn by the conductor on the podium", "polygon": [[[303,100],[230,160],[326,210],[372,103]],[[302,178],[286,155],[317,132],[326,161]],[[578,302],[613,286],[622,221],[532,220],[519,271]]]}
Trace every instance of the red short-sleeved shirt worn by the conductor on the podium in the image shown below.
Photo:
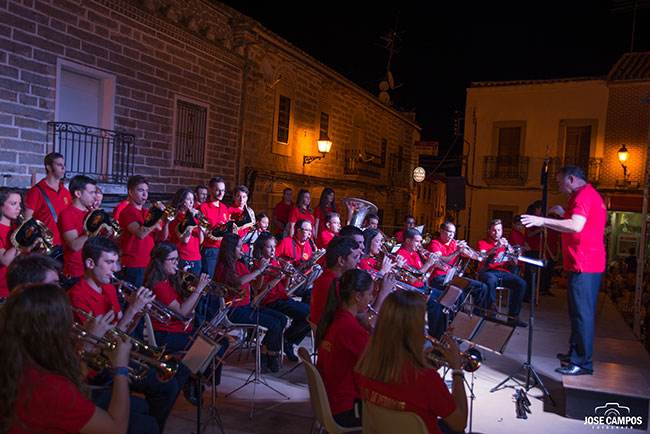
{"label": "red short-sleeved shirt worn by the conductor on the podium", "polygon": [[586,184],[569,198],[564,218],[571,218],[575,214],[586,217],[587,221],[582,231],[577,234],[562,233],[564,270],[602,273],[606,265],[603,237],[607,223],[607,207],[591,184]]}

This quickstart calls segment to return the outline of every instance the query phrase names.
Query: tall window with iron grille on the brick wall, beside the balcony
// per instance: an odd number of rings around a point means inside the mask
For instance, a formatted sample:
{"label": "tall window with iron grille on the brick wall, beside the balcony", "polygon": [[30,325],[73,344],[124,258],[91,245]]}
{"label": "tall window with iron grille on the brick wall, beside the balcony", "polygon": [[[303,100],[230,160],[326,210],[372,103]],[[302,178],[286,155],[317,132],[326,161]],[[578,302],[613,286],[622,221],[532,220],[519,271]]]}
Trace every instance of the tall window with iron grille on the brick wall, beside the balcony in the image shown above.
{"label": "tall window with iron grille on the brick wall, beside the balcony", "polygon": [[204,167],[207,119],[207,107],[176,100],[175,165]]}

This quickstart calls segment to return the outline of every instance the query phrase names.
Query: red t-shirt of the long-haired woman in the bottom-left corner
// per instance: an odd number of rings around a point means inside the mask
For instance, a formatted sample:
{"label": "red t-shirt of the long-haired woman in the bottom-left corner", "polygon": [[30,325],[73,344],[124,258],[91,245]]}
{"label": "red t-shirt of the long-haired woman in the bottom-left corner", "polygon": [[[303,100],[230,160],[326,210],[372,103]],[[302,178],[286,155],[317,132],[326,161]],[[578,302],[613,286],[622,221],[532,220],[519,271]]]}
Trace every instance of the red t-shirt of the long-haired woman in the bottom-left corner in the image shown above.
{"label": "red t-shirt of the long-haired woman in the bottom-left corner", "polygon": [[25,366],[14,413],[10,434],[77,433],[95,414],[95,404],[67,378]]}

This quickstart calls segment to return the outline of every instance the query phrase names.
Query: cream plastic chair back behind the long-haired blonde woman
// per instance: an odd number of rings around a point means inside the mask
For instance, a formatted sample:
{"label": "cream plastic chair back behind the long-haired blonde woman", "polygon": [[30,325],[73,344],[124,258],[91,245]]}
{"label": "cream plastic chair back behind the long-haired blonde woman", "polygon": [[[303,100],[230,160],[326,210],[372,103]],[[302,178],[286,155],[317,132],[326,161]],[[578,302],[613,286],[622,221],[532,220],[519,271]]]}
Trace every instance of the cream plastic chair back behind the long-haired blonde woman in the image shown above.
{"label": "cream plastic chair back behind the long-haired blonde woman", "polygon": [[410,411],[389,410],[363,401],[363,434],[428,434],[424,420]]}

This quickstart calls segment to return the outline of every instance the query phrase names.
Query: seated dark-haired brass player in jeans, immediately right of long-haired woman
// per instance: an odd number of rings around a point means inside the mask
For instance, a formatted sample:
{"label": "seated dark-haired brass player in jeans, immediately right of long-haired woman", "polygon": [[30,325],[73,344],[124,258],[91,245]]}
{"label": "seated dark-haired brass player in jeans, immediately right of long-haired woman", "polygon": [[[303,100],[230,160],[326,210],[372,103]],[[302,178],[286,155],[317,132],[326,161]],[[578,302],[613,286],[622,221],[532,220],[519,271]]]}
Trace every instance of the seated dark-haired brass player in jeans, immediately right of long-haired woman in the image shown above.
{"label": "seated dark-haired brass player in jeans, immediately right of long-haired woman", "polygon": [[[270,233],[260,235],[255,241],[255,248],[253,249],[255,259],[258,261],[267,259],[269,265],[277,269],[289,270],[288,266],[282,267],[275,257],[275,243],[275,238]],[[284,332],[284,353],[289,360],[297,362],[298,357],[293,351],[293,346],[299,345],[309,333],[310,327],[309,323],[307,323],[309,305],[296,301],[287,294],[288,280],[286,274],[277,271],[259,277],[253,282],[253,286],[257,288],[258,296],[268,291],[262,299],[264,307],[277,310],[291,318],[291,325]]]}

